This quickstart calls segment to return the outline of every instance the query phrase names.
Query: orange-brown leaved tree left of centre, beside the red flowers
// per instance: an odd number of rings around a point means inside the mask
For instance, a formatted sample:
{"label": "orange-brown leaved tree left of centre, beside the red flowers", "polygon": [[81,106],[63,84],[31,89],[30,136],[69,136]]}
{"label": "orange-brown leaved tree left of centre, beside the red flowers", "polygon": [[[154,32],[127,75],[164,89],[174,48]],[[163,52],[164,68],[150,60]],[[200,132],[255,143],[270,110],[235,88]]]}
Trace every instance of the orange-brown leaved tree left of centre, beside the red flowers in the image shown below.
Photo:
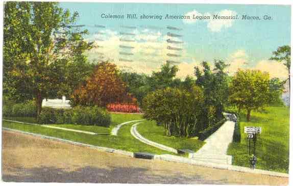
{"label": "orange-brown leaved tree left of centre, beside the red flowers", "polygon": [[75,104],[100,107],[106,107],[109,103],[135,102],[127,93],[116,65],[109,62],[97,64],[92,75],[74,91],[71,99]]}

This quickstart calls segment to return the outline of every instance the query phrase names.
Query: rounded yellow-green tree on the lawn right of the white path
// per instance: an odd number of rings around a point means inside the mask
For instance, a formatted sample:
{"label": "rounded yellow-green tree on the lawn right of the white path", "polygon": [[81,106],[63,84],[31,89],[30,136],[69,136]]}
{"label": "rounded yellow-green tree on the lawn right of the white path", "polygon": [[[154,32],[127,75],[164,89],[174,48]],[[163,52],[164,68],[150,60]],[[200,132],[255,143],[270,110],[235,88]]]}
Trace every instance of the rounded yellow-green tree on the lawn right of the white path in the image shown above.
{"label": "rounded yellow-green tree on the lawn right of the white path", "polygon": [[258,110],[272,98],[270,76],[260,70],[238,70],[232,78],[229,88],[229,100],[238,109],[247,111],[247,121],[250,121],[252,110]]}

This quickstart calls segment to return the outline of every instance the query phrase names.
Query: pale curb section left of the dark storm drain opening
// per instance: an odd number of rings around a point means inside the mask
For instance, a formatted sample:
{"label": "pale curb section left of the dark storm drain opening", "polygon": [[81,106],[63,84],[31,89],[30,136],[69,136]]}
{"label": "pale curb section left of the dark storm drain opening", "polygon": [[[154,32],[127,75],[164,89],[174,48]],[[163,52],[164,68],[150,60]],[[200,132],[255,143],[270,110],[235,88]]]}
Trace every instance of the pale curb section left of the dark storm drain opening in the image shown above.
{"label": "pale curb section left of the dark storm drain opening", "polygon": [[99,147],[99,146],[95,146],[95,145],[89,145],[89,144],[85,144],[85,143],[79,143],[79,142],[74,142],[74,141],[70,141],[70,140],[64,140],[64,139],[61,139],[61,138],[55,138],[55,137],[50,137],[50,136],[39,135],[39,134],[35,134],[35,133],[32,133],[32,132],[26,132],[26,131],[6,128],[6,127],[2,127],[2,129],[8,130],[8,131],[19,132],[21,134],[35,136],[35,137],[39,137],[39,138],[42,138],[42,139],[50,139],[50,140],[60,141],[60,142],[64,142],[64,143],[69,143],[69,144],[72,144],[72,145],[77,145],[77,146],[82,146],[82,147],[89,147],[89,148],[98,149],[98,150],[105,151],[105,152],[111,152],[111,153],[115,153],[115,154],[122,154],[122,155],[127,155],[127,156],[130,156],[130,157],[134,157],[133,152],[129,152],[129,151],[125,151],[125,150],[118,150],[118,149],[113,149],[113,148],[108,148],[108,147]]}

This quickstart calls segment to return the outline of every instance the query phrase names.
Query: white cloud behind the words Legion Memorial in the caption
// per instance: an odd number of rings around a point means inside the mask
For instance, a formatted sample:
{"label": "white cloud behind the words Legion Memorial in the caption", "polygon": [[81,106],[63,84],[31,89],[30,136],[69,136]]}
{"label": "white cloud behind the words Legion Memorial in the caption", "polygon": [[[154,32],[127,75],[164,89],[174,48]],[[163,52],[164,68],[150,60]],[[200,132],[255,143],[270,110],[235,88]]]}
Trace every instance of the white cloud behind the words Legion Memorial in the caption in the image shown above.
{"label": "white cloud behind the words Legion Memorial in the caption", "polygon": [[193,15],[195,16],[210,16],[210,19],[204,19],[201,21],[207,22],[207,28],[211,32],[220,32],[222,29],[230,28],[235,21],[234,19],[213,19],[213,15],[218,16],[235,16],[237,13],[232,10],[222,10],[220,12],[206,12],[206,13],[200,13],[196,10],[193,10],[191,12],[187,12],[185,15],[190,16],[190,19],[184,19],[183,22],[187,24],[196,23],[197,19],[192,19]]}

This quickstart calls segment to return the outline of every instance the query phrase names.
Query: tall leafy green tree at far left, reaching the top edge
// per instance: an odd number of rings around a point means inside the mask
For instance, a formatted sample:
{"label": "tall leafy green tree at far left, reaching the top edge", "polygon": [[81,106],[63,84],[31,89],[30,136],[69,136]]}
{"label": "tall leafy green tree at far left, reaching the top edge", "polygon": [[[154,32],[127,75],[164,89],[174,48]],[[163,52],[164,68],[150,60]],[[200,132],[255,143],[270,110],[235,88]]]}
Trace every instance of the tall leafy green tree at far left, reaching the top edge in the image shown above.
{"label": "tall leafy green tree at far left, reaching the top edge", "polygon": [[62,87],[71,81],[67,67],[85,62],[84,51],[93,46],[83,39],[87,31],[74,26],[77,17],[77,12],[70,16],[58,3],[5,4],[5,94],[19,100],[34,98],[39,114],[43,98],[66,91]]}

